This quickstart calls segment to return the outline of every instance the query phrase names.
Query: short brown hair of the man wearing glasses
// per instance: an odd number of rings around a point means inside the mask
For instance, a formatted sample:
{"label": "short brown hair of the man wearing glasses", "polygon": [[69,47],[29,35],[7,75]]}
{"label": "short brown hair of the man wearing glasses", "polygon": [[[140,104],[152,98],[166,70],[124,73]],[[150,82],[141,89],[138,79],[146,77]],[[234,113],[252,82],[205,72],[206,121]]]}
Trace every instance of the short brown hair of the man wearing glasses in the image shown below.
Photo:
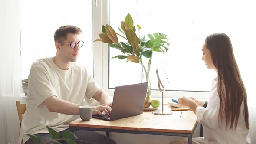
{"label": "short brown hair of the man wearing glasses", "polygon": [[63,39],[67,38],[68,33],[81,34],[82,29],[72,25],[61,26],[54,33],[54,42],[62,42]]}

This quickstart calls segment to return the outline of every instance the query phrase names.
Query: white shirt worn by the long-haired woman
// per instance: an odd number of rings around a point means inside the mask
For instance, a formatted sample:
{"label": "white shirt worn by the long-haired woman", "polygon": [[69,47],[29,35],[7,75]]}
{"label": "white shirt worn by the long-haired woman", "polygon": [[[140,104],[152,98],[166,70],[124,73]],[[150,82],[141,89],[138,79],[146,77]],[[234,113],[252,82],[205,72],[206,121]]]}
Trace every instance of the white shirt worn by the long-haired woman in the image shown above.
{"label": "white shirt worn by the long-haired woman", "polygon": [[[203,125],[203,144],[250,144],[249,130],[246,129],[243,120],[243,103],[240,108],[240,115],[235,129],[226,130],[226,122],[219,122],[220,98],[217,89],[217,79],[213,79],[211,95],[206,108],[197,107],[197,120]],[[224,118],[225,119],[225,118]]]}

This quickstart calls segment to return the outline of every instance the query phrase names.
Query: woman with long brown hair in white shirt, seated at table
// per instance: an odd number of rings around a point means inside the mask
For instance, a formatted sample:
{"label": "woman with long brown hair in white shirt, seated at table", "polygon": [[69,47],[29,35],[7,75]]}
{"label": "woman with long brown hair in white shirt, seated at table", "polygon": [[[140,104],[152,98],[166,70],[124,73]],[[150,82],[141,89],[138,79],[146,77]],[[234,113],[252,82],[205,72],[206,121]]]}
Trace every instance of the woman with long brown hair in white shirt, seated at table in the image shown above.
{"label": "woman with long brown hair in white shirt, seated at table", "polygon": [[[224,33],[207,36],[202,60],[217,77],[212,81],[210,99],[179,98],[179,105],[189,107],[203,125],[204,137],[193,138],[193,144],[250,144],[247,94],[243,85],[229,37]],[[186,139],[171,144],[187,144]]]}

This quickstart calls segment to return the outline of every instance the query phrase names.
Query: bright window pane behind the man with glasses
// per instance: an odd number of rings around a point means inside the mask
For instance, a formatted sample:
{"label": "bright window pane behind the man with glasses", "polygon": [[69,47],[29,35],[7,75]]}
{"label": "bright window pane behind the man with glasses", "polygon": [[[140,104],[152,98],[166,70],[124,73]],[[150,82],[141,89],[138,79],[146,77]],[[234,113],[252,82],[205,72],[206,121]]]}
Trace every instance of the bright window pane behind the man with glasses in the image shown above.
{"label": "bright window pane behind the man with glasses", "polygon": [[75,25],[82,29],[84,34],[80,38],[85,43],[77,63],[85,65],[92,73],[92,0],[22,0],[22,79],[28,77],[34,61],[55,56],[53,34],[63,25]]}

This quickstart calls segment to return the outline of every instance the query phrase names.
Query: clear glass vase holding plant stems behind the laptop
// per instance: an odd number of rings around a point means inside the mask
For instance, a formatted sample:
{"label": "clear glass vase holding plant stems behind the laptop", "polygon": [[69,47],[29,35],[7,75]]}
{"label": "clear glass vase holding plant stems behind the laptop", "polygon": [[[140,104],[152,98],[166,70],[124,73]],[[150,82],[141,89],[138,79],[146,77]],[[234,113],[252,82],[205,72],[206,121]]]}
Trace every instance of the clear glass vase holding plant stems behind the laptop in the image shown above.
{"label": "clear glass vase holding plant stems behind the laptop", "polygon": [[151,65],[143,65],[141,64],[141,82],[148,82],[147,88],[147,96],[144,103],[144,108],[148,108],[150,106],[150,95],[151,95],[151,83],[149,79]]}

